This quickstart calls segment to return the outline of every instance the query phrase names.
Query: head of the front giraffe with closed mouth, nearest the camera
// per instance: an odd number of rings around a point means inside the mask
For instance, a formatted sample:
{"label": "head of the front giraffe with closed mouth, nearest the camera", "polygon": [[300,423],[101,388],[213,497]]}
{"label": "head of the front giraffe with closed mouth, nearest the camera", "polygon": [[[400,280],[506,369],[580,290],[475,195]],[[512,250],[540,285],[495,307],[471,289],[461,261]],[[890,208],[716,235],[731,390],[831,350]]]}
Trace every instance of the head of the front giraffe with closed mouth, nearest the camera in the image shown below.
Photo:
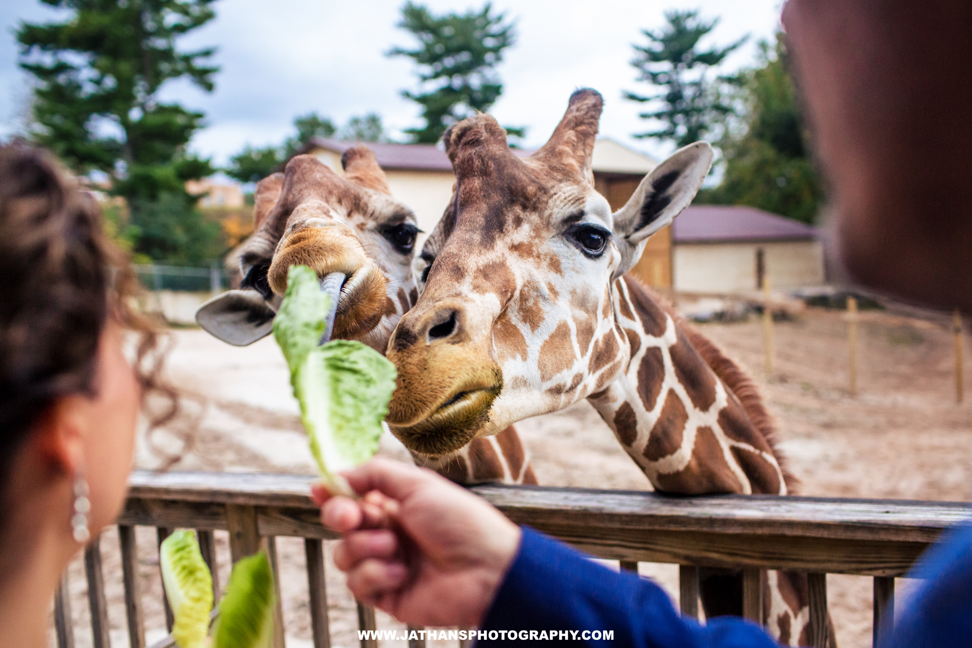
{"label": "head of the front giraffe with closed mouth, nearest the camera", "polygon": [[416,260],[418,304],[389,342],[399,384],[388,422],[409,449],[443,454],[561,410],[627,364],[614,279],[695,196],[712,148],[677,151],[612,214],[591,169],[601,109],[598,92],[577,90],[524,159],[488,115],[443,135],[456,187]]}

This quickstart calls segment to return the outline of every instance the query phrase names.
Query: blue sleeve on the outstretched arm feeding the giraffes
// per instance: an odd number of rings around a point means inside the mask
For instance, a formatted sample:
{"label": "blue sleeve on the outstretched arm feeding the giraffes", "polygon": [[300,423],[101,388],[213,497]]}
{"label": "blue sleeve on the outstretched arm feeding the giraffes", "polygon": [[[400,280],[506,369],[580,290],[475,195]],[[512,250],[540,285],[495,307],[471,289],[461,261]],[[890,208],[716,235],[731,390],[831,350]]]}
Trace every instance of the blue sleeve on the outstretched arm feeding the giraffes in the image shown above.
{"label": "blue sleeve on the outstretched arm feeding the giraffes", "polygon": [[[635,648],[770,648],[777,644],[759,626],[719,617],[708,625],[680,617],[668,594],[635,574],[618,574],[567,545],[523,527],[519,551],[480,630],[506,645],[509,630],[537,630],[538,638],[573,639],[592,646]],[[571,632],[569,635],[561,631]],[[583,635],[587,630],[588,635]],[[612,632],[595,639],[594,631]],[[496,631],[494,635],[492,631]],[[480,636],[483,636],[480,634]],[[519,637],[517,637],[519,638]],[[587,639],[586,641],[584,639]],[[534,641],[530,645],[534,645]]]}

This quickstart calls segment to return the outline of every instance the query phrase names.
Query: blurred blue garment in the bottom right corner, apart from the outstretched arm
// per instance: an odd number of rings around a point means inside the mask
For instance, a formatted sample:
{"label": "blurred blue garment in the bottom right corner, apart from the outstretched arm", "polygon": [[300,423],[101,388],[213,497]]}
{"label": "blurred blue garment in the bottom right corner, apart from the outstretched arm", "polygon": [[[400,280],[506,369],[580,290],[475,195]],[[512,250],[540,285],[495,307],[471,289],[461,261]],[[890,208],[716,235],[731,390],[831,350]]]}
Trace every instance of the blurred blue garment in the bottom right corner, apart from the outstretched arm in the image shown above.
{"label": "blurred blue garment in the bottom right corner, apart from the outstretched arm", "polygon": [[968,646],[972,637],[972,525],[950,530],[909,574],[926,579],[881,648]]}

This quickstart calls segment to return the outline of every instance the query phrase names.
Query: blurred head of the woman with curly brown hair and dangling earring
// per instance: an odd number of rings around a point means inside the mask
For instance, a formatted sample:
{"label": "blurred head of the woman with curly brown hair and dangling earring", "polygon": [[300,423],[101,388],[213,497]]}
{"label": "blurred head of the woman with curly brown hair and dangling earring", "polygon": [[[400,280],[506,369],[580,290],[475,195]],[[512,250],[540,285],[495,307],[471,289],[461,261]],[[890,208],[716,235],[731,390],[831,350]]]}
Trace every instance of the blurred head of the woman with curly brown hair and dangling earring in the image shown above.
{"label": "blurred head of the woman with curly brown hair and dangling earring", "polygon": [[[118,514],[157,373],[138,369],[155,336],[128,309],[133,286],[94,200],[46,154],[0,147],[0,573],[25,524],[70,548],[76,484],[90,485],[91,534]],[[136,369],[125,329],[142,333]]]}

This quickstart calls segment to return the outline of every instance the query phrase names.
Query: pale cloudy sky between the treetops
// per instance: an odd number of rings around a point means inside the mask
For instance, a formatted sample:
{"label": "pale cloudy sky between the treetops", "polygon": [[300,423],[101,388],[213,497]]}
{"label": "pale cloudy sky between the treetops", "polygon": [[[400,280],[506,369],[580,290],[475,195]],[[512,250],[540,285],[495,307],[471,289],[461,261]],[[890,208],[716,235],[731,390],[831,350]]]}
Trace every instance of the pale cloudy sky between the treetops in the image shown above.
{"label": "pale cloudy sky between the treetops", "polygon": [[[278,144],[293,119],[318,111],[342,124],[375,111],[392,132],[418,126],[416,104],[399,95],[414,87],[411,60],[389,58],[392,46],[410,47],[397,28],[403,0],[220,0],[217,18],[187,36],[184,49],[216,46],[222,67],[210,94],[170,82],[164,99],[177,99],[206,114],[207,125],[191,148],[214,162],[245,143]],[[436,12],[466,11],[479,3],[428,0]],[[13,31],[21,20],[57,14],[37,0],[5,0],[0,16],[0,138],[21,123],[29,80],[17,69]],[[527,146],[539,146],[563,114],[576,88],[605,96],[603,135],[655,156],[664,146],[631,138],[643,130],[640,104],[621,98],[622,90],[645,91],[628,61],[632,44],[644,41],[643,28],[655,28],[670,8],[699,8],[720,18],[709,44],[723,45],[749,34],[746,46],[726,62],[736,69],[754,60],[759,39],[771,39],[779,26],[781,0],[495,0],[494,6],[517,22],[517,43],[506,51],[500,74],[503,96],[491,112],[501,124],[527,126]]]}

